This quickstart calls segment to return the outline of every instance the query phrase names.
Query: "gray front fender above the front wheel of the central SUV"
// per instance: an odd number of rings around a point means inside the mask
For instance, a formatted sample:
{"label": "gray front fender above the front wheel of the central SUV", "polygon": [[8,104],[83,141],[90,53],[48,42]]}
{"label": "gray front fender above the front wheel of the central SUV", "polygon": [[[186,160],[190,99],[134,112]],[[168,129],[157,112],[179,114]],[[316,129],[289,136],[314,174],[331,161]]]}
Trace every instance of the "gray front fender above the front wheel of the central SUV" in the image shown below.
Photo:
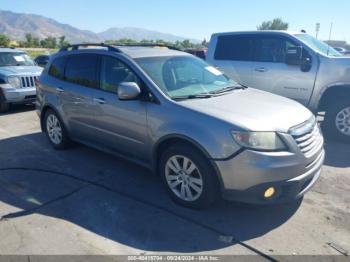
{"label": "gray front fender above the front wheel of the central SUV", "polygon": [[160,141],[169,137],[193,141],[212,159],[228,158],[240,149],[231,136],[230,124],[181,107],[177,102],[149,104],[148,124],[152,153]]}

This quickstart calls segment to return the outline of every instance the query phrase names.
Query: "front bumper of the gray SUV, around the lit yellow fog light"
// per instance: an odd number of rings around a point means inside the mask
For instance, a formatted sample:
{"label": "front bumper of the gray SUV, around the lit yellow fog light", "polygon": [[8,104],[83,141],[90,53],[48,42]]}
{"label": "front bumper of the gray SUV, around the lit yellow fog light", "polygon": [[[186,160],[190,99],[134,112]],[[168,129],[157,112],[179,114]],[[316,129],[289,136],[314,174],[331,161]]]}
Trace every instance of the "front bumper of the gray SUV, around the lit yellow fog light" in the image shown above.
{"label": "front bumper of the gray SUV, around the lit yellow fog light", "polygon": [[[291,152],[244,150],[230,160],[215,161],[215,165],[224,199],[268,204],[303,196],[319,178],[324,158],[323,147],[312,159]],[[275,188],[275,194],[265,198],[269,187]]]}

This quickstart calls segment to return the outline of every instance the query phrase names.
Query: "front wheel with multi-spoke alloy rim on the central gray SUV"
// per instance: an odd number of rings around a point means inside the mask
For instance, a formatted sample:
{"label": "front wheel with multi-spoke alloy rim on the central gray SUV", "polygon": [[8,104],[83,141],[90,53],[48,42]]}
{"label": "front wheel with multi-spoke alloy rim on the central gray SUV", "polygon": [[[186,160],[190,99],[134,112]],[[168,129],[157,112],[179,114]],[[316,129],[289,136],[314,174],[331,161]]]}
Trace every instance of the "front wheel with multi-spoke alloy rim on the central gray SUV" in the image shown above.
{"label": "front wheel with multi-spoke alloy rim on the central gray SUV", "polygon": [[[175,160],[180,169],[176,169]],[[213,166],[209,159],[191,146],[179,144],[165,150],[161,155],[159,174],[170,197],[182,206],[207,208],[219,197],[219,183]],[[184,195],[181,195],[181,190]]]}

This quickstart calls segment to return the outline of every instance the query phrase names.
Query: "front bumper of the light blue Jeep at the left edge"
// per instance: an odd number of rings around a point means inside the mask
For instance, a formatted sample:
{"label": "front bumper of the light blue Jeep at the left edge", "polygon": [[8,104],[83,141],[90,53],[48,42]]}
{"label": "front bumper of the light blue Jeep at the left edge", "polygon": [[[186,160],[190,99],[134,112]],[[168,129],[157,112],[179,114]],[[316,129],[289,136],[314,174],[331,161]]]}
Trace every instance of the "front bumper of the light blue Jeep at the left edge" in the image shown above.
{"label": "front bumper of the light blue Jeep at the left edge", "polygon": [[36,88],[13,88],[8,84],[0,85],[2,100],[6,103],[30,103],[36,99]]}

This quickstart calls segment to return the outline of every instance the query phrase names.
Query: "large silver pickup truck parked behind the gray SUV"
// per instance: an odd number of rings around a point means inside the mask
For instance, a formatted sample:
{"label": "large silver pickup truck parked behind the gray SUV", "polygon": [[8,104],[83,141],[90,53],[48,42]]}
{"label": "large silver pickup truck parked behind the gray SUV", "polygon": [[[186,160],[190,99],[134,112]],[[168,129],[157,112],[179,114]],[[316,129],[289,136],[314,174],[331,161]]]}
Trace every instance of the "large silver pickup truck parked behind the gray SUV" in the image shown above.
{"label": "large silver pickup truck parked behind the gray SUV", "polygon": [[213,34],[207,61],[239,83],[325,111],[324,132],[350,141],[350,58],[305,33]]}

